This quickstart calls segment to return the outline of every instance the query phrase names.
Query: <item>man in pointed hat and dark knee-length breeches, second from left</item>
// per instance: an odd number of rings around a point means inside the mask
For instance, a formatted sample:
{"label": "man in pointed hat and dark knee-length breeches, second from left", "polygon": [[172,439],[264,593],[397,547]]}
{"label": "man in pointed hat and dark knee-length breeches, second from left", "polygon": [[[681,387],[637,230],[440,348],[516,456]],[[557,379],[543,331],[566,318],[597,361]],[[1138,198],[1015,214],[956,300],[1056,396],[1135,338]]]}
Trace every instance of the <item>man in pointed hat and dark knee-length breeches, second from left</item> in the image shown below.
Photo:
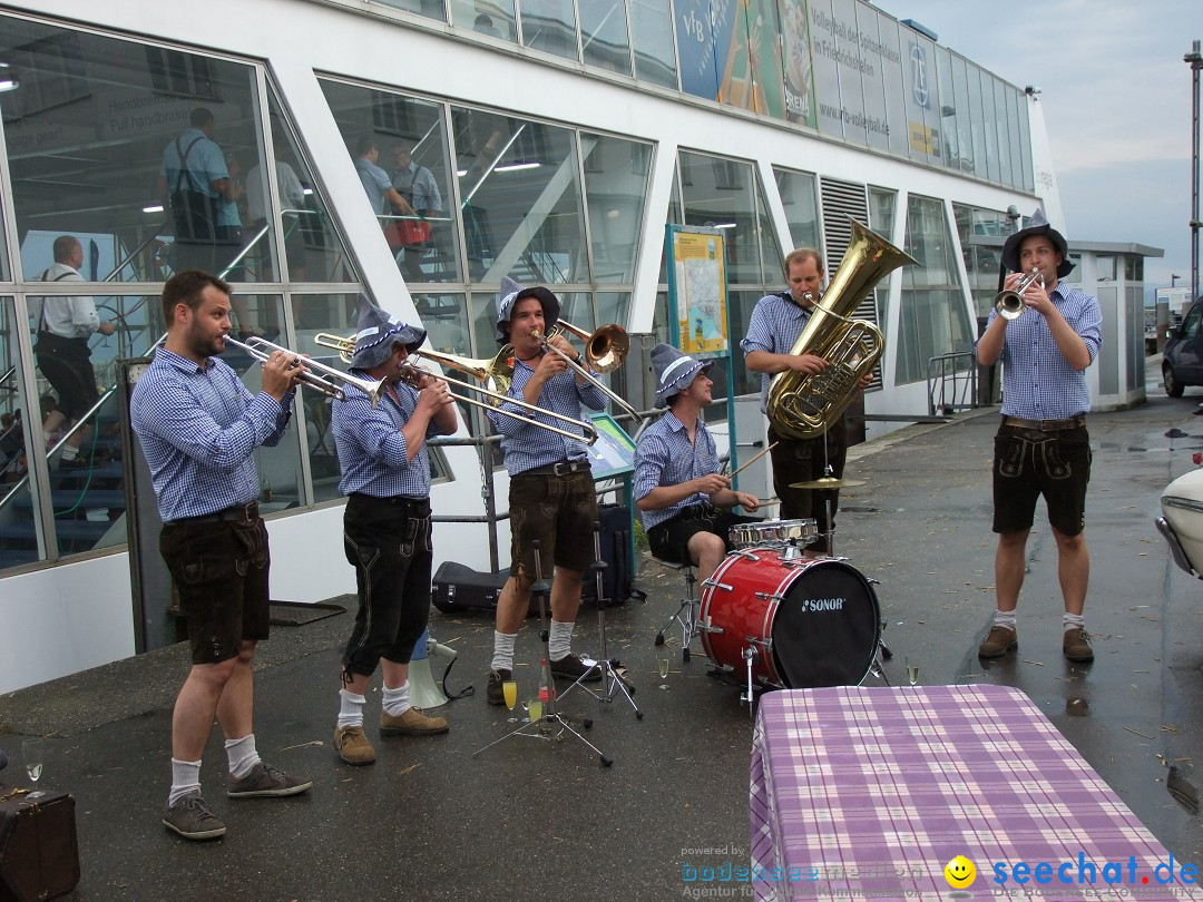
{"label": "man in pointed hat and dark knee-length breeches, second from left", "polygon": [[[448,722],[409,702],[409,659],[431,610],[431,462],[426,440],[456,431],[446,382],[405,367],[426,340],[360,295],[351,370],[385,380],[380,403],[349,385],[333,407],[332,428],[346,495],[343,546],[355,568],[360,607],[343,653],[334,748],[352,765],[372,764],[363,732],[365,693],[383,661],[380,735],[433,736]],[[407,376],[408,370],[408,376]],[[402,381],[403,376],[414,385]]]}

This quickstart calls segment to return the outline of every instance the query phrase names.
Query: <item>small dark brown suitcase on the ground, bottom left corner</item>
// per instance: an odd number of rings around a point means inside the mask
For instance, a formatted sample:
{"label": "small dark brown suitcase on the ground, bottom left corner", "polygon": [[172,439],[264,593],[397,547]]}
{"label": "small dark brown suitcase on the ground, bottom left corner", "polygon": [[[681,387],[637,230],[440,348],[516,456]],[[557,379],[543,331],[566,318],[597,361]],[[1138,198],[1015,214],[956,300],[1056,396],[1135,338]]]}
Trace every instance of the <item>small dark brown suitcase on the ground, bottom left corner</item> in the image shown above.
{"label": "small dark brown suitcase on the ground, bottom left corner", "polygon": [[0,787],[0,902],[54,898],[79,883],[75,796]]}

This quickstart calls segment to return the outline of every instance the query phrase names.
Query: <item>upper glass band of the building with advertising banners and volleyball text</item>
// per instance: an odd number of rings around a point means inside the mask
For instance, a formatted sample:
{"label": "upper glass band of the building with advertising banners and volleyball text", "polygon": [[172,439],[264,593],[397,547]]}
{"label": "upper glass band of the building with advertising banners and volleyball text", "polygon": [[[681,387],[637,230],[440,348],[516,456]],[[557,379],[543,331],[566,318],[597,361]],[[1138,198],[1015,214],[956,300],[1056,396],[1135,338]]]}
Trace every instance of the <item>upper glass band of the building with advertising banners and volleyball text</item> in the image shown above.
{"label": "upper glass band of the building with advertising banners and volleyball text", "polygon": [[[448,0],[467,38],[1032,190],[1026,99],[865,0]],[[442,0],[369,0],[445,20]],[[1026,159],[1025,159],[1026,158]]]}

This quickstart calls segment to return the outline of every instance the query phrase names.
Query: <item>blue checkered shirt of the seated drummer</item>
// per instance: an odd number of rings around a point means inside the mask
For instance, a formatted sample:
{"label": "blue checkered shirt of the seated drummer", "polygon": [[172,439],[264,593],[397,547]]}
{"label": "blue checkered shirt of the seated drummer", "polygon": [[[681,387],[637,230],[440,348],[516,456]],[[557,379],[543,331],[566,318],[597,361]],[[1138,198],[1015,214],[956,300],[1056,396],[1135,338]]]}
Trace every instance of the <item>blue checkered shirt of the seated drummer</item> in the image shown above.
{"label": "blue checkered shirt of the seated drummer", "polygon": [[[718,473],[718,450],[706,423],[698,417],[694,427],[694,444],[685,425],[669,410],[664,416],[644,429],[635,444],[635,500],[646,497],[660,486],[678,486],[698,476]],[[691,504],[709,504],[710,495],[694,492],[676,504],[659,510],[641,510],[644,530],[671,520]]]}

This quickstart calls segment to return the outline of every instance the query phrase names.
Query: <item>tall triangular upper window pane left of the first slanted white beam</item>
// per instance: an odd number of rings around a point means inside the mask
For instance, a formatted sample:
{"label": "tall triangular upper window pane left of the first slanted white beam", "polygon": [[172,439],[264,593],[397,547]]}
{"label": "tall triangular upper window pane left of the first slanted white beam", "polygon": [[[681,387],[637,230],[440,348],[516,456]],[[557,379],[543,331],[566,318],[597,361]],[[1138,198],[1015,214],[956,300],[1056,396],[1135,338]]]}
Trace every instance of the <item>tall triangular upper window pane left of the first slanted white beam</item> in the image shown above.
{"label": "tall triangular upper window pane left of the first slanted white beam", "polygon": [[257,235],[267,224],[267,198],[274,196],[279,221],[273,221],[272,229],[257,242],[257,279],[275,281],[280,278],[273,268],[278,254],[272,253],[278,247],[279,229],[284,235],[290,281],[356,281],[350,255],[334,231],[330,208],[315,188],[312,168],[271,85],[267,111],[275,167],[273,172],[271,167],[255,166],[247,173],[247,212],[251,231]]}

